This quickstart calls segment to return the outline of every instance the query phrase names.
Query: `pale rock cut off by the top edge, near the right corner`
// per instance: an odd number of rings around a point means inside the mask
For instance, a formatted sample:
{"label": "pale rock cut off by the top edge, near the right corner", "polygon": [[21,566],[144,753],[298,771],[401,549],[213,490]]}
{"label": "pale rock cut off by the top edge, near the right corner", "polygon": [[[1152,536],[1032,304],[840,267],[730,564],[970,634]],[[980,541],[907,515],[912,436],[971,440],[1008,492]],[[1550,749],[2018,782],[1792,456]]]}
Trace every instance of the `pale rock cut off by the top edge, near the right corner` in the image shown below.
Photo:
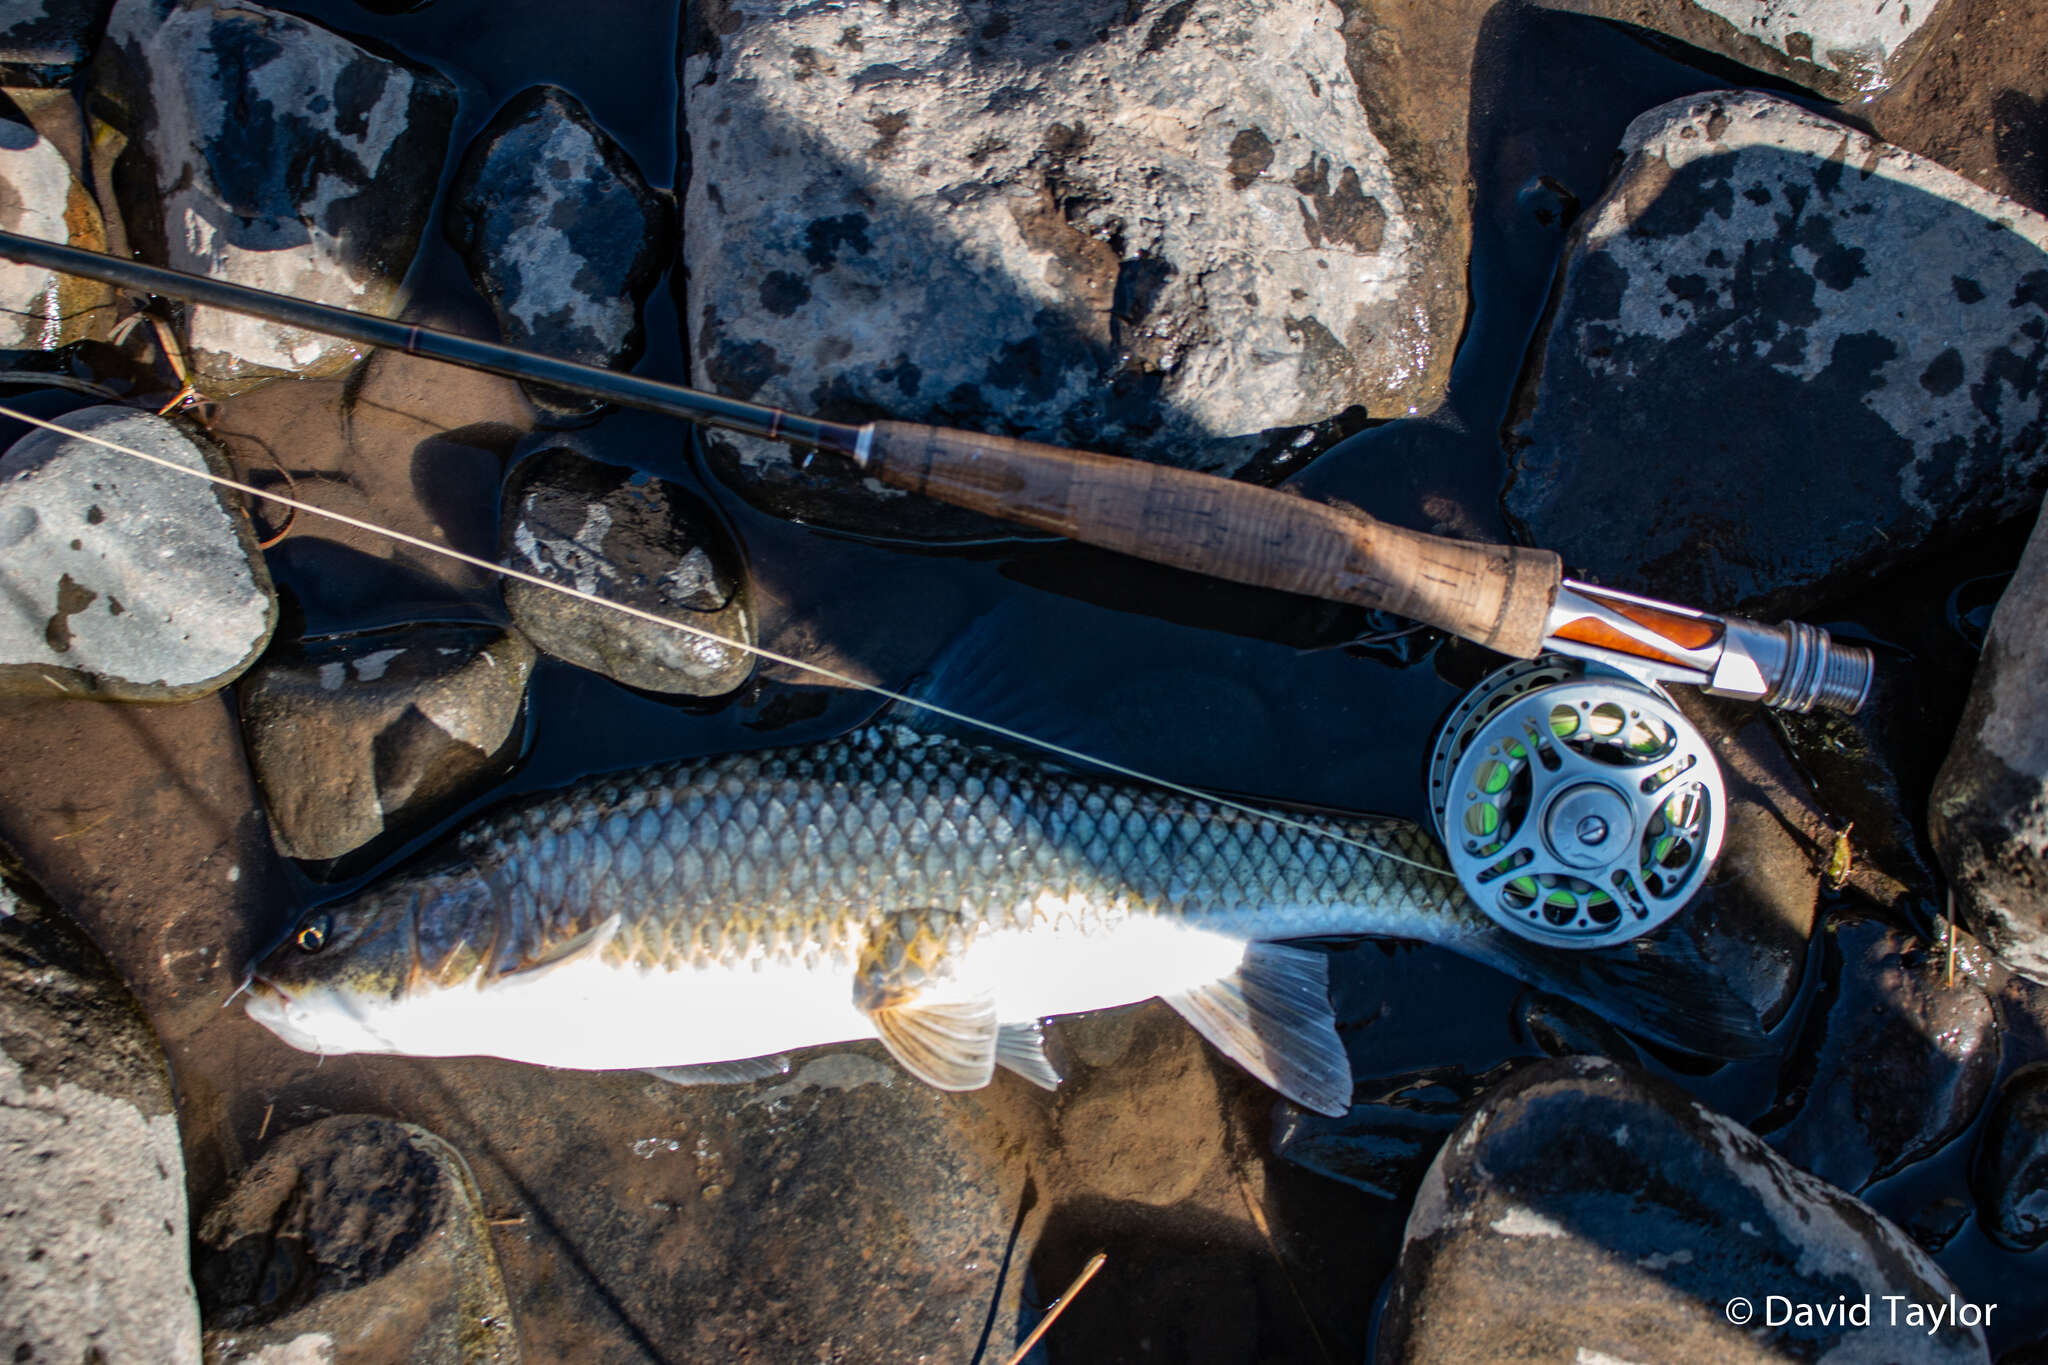
{"label": "pale rock cut off by the top edge, near the right corner", "polygon": [[1741,61],[1831,100],[1874,94],[1907,74],[1942,0],[1542,0],[1544,8],[1616,18]]}

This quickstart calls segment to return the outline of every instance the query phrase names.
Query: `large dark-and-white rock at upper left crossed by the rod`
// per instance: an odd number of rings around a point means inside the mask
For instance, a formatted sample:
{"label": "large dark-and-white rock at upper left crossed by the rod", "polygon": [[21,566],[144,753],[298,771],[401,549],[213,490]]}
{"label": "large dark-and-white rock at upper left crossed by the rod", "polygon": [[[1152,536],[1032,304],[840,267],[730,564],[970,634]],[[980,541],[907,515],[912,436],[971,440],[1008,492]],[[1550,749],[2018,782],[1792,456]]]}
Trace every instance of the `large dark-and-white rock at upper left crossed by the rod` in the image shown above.
{"label": "large dark-and-white rock at upper left crossed by the rod", "polygon": [[[119,0],[94,115],[127,137],[115,194],[162,266],[391,317],[455,119],[440,74],[244,0]],[[193,309],[209,395],[340,375],[350,342]]]}

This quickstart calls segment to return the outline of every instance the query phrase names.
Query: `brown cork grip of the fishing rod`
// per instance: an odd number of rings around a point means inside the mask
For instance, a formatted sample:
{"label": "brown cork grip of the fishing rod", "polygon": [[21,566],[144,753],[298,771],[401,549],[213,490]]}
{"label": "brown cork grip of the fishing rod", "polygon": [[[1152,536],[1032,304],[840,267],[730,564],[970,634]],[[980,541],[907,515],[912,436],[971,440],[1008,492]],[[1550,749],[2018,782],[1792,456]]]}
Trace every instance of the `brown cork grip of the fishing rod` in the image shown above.
{"label": "brown cork grip of the fishing rod", "polygon": [[1542,649],[1559,557],[1425,536],[1364,512],[1186,469],[915,422],[860,428],[883,483],[1210,577],[1380,608],[1522,659]]}

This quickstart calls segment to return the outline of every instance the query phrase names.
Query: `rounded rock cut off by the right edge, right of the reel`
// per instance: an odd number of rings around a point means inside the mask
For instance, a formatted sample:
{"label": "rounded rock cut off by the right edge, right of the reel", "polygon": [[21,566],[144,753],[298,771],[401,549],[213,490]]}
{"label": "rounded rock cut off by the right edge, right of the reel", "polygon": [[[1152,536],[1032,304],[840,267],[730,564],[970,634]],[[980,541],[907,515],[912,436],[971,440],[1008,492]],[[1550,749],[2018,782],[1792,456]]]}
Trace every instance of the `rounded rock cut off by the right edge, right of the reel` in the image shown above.
{"label": "rounded rock cut off by the right edge, right of the reel", "polygon": [[2048,518],[1991,614],[1956,739],[1933,780],[1927,835],[1956,911],[1985,945],[2048,982]]}

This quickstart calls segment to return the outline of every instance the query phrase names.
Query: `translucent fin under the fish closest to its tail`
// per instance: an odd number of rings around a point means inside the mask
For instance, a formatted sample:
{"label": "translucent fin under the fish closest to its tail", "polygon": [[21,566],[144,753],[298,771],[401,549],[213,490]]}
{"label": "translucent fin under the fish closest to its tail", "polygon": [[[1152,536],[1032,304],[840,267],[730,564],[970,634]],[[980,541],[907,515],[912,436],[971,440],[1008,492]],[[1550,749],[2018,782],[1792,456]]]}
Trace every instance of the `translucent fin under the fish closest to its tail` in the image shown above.
{"label": "translucent fin under the fish closest to its tail", "polygon": [[1165,997],[1217,1050],[1296,1105],[1352,1107],[1352,1060],[1329,1009],[1329,960],[1305,948],[1251,943],[1223,980]]}

